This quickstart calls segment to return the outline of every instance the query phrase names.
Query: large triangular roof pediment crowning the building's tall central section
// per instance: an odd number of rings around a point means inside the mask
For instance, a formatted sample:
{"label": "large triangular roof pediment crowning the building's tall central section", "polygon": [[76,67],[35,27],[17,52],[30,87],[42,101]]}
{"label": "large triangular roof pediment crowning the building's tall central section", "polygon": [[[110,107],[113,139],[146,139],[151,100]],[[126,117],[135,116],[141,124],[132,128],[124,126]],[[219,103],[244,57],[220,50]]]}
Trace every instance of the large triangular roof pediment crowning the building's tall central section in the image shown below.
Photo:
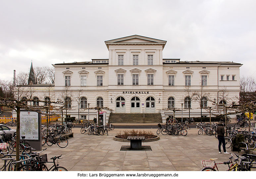
{"label": "large triangular roof pediment crowning the building's tall central section", "polygon": [[107,47],[109,47],[109,45],[111,45],[111,44],[120,44],[120,45],[124,45],[124,44],[160,44],[160,45],[163,45],[163,48],[164,48],[166,42],[167,41],[153,39],[153,38],[144,37],[144,36],[140,36],[140,35],[131,35],[131,36],[127,36],[127,37],[122,37],[122,38],[118,38],[118,39],[105,41],[105,44],[107,45]]}

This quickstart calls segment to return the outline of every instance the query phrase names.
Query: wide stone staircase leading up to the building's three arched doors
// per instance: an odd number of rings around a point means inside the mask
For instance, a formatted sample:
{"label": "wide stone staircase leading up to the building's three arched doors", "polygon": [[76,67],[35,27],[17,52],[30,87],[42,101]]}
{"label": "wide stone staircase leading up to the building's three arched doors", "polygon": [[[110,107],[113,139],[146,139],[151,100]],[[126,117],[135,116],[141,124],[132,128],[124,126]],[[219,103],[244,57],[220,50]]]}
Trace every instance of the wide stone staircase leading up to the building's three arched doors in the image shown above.
{"label": "wide stone staircase leading up to the building's three arched doors", "polygon": [[160,113],[111,113],[109,123],[162,123]]}

